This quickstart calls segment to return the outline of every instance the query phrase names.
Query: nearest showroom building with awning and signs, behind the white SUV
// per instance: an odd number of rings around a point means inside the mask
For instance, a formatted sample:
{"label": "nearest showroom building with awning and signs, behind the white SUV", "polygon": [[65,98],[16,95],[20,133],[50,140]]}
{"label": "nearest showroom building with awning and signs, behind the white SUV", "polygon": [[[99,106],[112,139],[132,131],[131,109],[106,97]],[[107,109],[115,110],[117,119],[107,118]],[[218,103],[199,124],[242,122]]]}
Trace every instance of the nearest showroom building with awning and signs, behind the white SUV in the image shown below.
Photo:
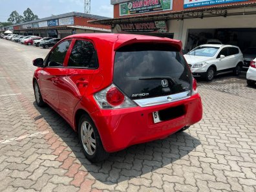
{"label": "nearest showroom building with awning and signs, behind the white SUV", "polygon": [[208,39],[256,47],[256,0],[111,0],[112,32],[180,39],[187,52]]}

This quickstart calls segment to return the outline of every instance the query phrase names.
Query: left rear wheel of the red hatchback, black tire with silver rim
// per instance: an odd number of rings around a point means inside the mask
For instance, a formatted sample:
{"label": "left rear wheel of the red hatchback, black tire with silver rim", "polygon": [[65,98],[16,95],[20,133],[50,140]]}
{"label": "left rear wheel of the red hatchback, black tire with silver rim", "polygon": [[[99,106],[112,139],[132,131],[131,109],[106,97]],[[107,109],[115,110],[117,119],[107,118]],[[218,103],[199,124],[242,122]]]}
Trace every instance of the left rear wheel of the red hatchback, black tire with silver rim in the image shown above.
{"label": "left rear wheel of the red hatchback, black tire with silver rim", "polygon": [[[84,131],[88,130],[88,129],[91,130],[90,126],[91,126],[91,129],[93,132],[90,135],[89,134],[90,131],[88,131],[88,134],[85,135],[86,133],[84,133]],[[105,149],[102,145],[102,142],[100,139],[100,134],[98,133],[98,130],[96,129],[96,126],[94,125],[94,122],[87,114],[83,114],[79,120],[78,136],[79,136],[79,141],[80,141],[81,147],[83,149],[83,153],[85,153],[85,156],[87,157],[87,159],[90,162],[92,162],[92,163],[101,162],[101,161],[105,160],[106,158],[108,158],[109,153],[107,153],[107,151],[105,151]],[[92,140],[94,140],[95,142],[92,142]],[[95,149],[92,149],[93,146],[90,145],[93,143],[94,143]]]}

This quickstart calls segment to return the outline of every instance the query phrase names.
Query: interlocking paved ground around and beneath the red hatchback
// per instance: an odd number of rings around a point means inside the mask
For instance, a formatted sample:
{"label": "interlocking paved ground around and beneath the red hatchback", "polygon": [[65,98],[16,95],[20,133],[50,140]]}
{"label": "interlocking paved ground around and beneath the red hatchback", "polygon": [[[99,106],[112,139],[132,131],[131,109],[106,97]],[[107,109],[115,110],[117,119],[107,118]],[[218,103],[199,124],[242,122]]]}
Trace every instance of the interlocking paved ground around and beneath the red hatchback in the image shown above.
{"label": "interlocking paved ground around and beneath the red hatchback", "polygon": [[245,73],[199,81],[204,117],[184,133],[92,165],[69,125],[36,107],[32,59],[47,52],[0,39],[0,191],[256,190],[256,87]]}

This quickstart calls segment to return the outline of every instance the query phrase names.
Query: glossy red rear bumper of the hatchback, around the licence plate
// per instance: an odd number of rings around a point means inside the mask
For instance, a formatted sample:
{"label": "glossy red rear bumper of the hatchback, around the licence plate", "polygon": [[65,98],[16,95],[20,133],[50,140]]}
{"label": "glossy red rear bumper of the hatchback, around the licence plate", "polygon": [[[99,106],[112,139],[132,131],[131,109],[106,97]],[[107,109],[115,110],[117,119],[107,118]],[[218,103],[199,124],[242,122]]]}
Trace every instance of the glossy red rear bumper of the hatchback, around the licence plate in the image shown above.
{"label": "glossy red rear bumper of the hatchback, around the licence plate", "polygon": [[[171,120],[154,123],[153,112],[184,106],[184,114]],[[165,138],[202,118],[199,94],[186,100],[151,107],[100,110],[91,114],[106,151],[114,152],[134,144]]]}

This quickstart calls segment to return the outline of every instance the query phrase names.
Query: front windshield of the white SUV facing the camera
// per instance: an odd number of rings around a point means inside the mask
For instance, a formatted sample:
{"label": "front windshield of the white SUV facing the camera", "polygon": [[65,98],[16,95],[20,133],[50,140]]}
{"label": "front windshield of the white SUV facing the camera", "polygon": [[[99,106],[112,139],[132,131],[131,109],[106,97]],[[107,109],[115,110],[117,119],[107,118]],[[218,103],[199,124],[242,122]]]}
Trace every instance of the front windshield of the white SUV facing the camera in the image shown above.
{"label": "front windshield of the white SUV facing the camera", "polygon": [[196,47],[187,54],[191,56],[213,57],[218,50],[219,47]]}

